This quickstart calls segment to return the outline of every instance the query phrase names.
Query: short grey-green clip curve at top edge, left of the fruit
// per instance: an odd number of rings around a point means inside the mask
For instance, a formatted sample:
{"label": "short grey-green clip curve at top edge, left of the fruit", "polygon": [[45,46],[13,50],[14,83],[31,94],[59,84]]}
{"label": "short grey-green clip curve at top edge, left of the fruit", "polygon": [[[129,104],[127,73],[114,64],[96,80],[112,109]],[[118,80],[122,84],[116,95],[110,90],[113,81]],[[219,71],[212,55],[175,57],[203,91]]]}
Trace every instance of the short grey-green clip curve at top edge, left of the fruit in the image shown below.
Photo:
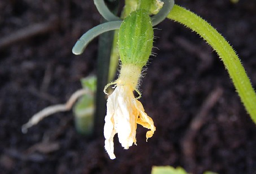
{"label": "short grey-green clip curve at top edge, left of the fruit", "polygon": [[94,0],[94,4],[96,8],[98,9],[101,16],[103,16],[108,21],[114,21],[114,20],[122,20],[121,18],[114,15],[109,8],[105,5],[103,0]]}

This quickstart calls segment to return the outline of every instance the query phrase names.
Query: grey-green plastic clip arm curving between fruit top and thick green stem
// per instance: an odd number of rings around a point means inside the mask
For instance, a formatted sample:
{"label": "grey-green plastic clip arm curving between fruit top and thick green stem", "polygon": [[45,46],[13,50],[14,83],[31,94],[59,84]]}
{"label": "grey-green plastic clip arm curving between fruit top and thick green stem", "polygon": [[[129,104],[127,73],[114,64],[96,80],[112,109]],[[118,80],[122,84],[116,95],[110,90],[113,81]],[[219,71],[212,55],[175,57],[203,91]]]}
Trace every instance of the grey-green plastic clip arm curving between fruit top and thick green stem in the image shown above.
{"label": "grey-green plastic clip arm curving between fruit top and thick green stem", "polygon": [[162,9],[156,15],[152,16],[153,26],[156,26],[159,23],[161,23],[161,21],[163,21],[166,18],[166,16],[174,7],[174,0],[162,0],[162,1],[164,2]]}

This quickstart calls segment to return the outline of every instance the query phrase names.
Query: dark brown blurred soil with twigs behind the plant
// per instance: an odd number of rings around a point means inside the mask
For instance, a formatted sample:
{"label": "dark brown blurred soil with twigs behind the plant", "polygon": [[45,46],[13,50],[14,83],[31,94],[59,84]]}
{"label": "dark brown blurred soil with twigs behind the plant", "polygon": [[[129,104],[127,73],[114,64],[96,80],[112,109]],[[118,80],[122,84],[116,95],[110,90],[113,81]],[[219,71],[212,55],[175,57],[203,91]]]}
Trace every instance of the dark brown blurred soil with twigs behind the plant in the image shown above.
{"label": "dark brown blurred soil with twigs behind the plant", "polygon": [[[176,3],[229,40],[255,89],[256,1]],[[159,50],[153,50],[157,56],[141,84],[140,101],[156,126],[148,142],[146,129],[138,126],[138,145],[124,150],[115,137],[117,158],[110,160],[103,133],[79,135],[72,112],[46,118],[23,134],[21,126],[33,114],[65,103],[81,88],[80,78],[96,73],[97,39],[80,56],[71,50],[99,22],[93,1],[0,2],[0,173],[150,173],[153,165],[256,173],[256,127],[223,63],[198,35],[168,19],[155,30]],[[23,32],[29,34],[17,39]]]}

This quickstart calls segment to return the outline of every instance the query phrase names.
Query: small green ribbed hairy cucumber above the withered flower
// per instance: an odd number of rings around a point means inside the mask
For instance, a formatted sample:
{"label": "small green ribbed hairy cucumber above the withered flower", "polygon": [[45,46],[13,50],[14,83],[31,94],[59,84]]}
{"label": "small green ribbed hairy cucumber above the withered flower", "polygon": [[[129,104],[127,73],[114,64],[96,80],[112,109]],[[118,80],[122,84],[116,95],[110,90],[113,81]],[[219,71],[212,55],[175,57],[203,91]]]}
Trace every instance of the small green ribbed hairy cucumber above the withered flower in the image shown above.
{"label": "small green ribbed hairy cucumber above the withered flower", "polygon": [[154,32],[148,12],[140,9],[127,16],[119,29],[118,48],[122,64],[142,68],[151,55]]}

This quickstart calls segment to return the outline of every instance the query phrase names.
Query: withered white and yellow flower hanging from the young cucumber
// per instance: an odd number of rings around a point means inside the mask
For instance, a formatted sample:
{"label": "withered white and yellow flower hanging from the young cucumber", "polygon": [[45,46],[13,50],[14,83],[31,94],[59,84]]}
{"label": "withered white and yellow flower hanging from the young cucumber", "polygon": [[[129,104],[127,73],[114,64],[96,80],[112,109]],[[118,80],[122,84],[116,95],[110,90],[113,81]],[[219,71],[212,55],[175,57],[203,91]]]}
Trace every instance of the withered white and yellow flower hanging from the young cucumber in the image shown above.
{"label": "withered white and yellow flower hanging from the young cucumber", "polygon": [[[104,125],[105,149],[111,159],[115,159],[114,142],[115,134],[118,134],[119,142],[124,149],[136,144],[137,123],[151,129],[146,133],[146,140],[151,138],[156,130],[153,120],[144,112],[144,108],[133,94],[137,85],[133,78],[136,73],[129,71],[131,67],[122,67],[120,76],[116,80],[116,88],[109,96]],[[133,74],[132,76],[127,74]],[[140,75],[140,71],[139,71]]]}

